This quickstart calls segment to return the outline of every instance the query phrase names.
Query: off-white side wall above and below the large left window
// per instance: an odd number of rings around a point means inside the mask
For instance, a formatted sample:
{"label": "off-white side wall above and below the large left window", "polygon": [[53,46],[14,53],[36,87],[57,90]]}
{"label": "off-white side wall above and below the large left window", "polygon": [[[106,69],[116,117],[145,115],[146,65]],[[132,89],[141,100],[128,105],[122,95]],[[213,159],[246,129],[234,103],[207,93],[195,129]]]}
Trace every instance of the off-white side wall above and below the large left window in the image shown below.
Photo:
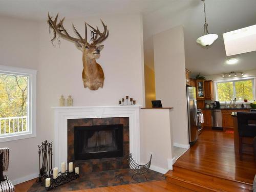
{"label": "off-white side wall above and below the large left window", "polygon": [[[27,20],[0,17],[0,25],[0,65],[37,70],[39,24]],[[43,117],[38,116],[39,118]],[[46,137],[40,129],[37,135],[37,138],[0,143],[0,147],[10,148],[10,165],[7,173],[10,179],[16,180],[38,175],[35,174],[38,169],[37,144]]]}

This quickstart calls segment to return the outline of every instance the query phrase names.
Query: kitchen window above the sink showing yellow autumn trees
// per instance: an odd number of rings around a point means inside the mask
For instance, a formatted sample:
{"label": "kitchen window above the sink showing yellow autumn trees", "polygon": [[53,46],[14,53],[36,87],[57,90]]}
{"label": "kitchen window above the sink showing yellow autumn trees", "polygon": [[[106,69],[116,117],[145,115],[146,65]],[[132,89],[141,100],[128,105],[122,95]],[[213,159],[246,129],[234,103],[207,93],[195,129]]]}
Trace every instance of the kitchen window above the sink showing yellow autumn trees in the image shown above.
{"label": "kitchen window above the sink showing yellow autumn trees", "polygon": [[244,102],[244,99],[251,102],[255,100],[254,81],[255,78],[216,81],[216,99],[220,102],[228,102],[237,98],[237,102]]}

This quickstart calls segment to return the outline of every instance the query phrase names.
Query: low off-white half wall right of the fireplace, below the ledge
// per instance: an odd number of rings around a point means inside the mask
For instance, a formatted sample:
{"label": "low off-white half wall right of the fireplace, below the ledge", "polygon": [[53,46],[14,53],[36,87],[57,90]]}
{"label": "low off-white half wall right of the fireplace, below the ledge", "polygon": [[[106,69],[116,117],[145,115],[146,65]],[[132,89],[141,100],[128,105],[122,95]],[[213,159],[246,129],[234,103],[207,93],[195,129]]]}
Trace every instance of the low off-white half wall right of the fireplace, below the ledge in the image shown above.
{"label": "low off-white half wall right of the fireplace, below the ledge", "polygon": [[172,115],[169,109],[140,110],[141,163],[147,163],[152,154],[151,169],[162,174],[172,169]]}

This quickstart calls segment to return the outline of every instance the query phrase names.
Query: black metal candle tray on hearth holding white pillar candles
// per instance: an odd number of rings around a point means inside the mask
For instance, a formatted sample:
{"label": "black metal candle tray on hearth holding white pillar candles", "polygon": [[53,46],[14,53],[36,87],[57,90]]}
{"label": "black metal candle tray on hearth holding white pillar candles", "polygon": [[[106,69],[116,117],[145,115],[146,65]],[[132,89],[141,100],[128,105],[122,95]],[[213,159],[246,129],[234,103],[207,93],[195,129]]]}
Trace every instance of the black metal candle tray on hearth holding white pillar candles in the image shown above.
{"label": "black metal candle tray on hearth holding white pillar candles", "polygon": [[58,174],[60,174],[60,175],[58,175],[58,177],[56,179],[53,179],[53,177],[51,177],[51,184],[49,187],[46,187],[46,190],[54,189],[60,185],[63,185],[70,181],[73,181],[79,177],[79,175],[77,173],[68,172],[68,170],[66,170],[65,173],[59,172]]}

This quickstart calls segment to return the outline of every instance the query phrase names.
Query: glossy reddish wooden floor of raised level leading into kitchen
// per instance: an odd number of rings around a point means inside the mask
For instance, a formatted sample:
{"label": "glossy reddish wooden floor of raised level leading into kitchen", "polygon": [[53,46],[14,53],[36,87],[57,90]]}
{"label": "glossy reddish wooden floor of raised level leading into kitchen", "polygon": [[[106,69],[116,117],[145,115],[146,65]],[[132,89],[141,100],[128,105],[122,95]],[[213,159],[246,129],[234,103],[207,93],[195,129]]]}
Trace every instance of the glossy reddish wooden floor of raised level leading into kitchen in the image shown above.
{"label": "glossy reddish wooden floor of raised level leading into kitchen", "polygon": [[243,155],[240,161],[234,154],[233,134],[210,130],[202,132],[175,166],[250,184],[256,174],[253,156]]}

